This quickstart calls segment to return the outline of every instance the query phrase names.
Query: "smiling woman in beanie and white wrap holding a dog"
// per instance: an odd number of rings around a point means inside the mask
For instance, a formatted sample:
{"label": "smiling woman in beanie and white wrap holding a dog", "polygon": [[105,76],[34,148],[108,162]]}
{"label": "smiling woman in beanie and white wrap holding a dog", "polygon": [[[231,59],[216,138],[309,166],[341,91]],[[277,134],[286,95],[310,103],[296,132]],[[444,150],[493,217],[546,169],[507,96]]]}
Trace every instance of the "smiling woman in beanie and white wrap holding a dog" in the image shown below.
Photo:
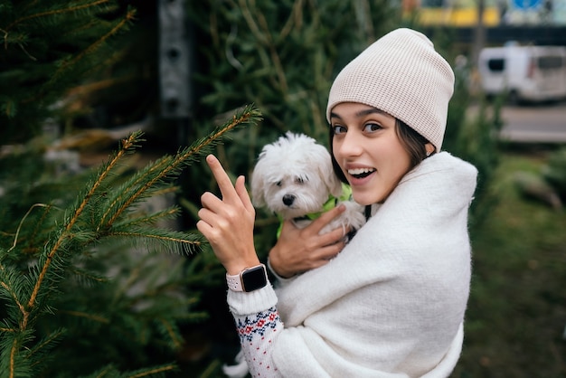
{"label": "smiling woman in beanie and white wrap holding a dog", "polygon": [[[333,162],[371,218],[345,246],[336,243],[342,231],[316,235],[340,208],[307,231],[286,224],[269,254],[284,288],[278,294],[254,249],[244,178],[232,186],[207,157],[222,200],[203,194],[197,227],[227,270],[228,303],[253,376],[446,377],[453,370],[476,187],[476,168],[440,152],[453,85],[448,62],[410,29],[386,34],[344,67],[326,110]],[[299,233],[307,240],[294,240]],[[297,242],[316,257],[297,258]]]}

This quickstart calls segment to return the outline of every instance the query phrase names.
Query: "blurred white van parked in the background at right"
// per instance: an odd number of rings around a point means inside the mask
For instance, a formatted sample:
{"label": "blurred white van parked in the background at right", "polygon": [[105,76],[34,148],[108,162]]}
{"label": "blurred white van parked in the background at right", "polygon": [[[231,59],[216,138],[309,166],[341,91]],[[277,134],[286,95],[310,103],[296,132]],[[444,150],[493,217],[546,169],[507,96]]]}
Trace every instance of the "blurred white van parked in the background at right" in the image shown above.
{"label": "blurred white van parked in the background at right", "polygon": [[477,70],[488,96],[506,92],[513,103],[566,98],[566,47],[488,47]]}

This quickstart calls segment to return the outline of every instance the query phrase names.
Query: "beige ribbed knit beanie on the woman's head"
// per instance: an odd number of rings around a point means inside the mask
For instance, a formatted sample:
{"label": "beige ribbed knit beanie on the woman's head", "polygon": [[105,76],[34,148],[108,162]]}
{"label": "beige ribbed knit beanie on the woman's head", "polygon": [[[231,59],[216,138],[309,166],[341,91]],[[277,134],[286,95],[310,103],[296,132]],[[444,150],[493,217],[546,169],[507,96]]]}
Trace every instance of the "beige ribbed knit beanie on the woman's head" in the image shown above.
{"label": "beige ribbed knit beanie on the woman's head", "polygon": [[401,119],[442,146],[454,72],[422,33],[397,29],[385,34],[338,74],[328,97],[326,119],[341,102],[359,102]]}

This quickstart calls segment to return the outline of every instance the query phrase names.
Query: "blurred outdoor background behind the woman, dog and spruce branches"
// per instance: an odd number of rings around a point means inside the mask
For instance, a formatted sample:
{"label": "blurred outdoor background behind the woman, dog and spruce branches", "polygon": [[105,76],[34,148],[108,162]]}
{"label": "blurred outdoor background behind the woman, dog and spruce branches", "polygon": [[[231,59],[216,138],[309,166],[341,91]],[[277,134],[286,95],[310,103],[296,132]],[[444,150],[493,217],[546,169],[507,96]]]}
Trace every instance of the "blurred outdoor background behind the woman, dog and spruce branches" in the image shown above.
{"label": "blurred outdoor background behind the woman, dog and spruce branches", "polygon": [[[452,376],[566,376],[566,0],[0,0],[0,268],[38,259],[11,248],[18,232],[33,232],[26,212],[79,201],[93,170],[133,131],[146,141],[124,177],[205,139],[250,104],[262,120],[215,150],[234,177],[249,175],[261,147],[287,130],[327,145],[335,75],[401,26],[427,34],[456,72],[443,148],[479,170],[467,333]],[[194,232],[201,194],[217,188],[201,162],[175,184],[175,194],[146,205],[178,206],[181,216],[165,226]],[[277,226],[259,209],[262,258]],[[118,282],[96,287],[100,317],[61,316],[94,292],[62,281],[24,345],[38,347],[54,324],[64,336],[14,376],[94,376],[110,367],[112,376],[222,376],[239,346],[212,253],[156,249],[140,274],[135,252],[96,250],[104,253],[89,259]],[[157,335],[178,336],[171,345],[137,323],[139,303],[116,299],[135,288],[159,319],[171,311],[156,291],[164,278],[189,299],[172,329],[157,326]],[[0,293],[3,319],[10,293]],[[10,357],[0,352],[0,377],[12,376],[3,373]],[[165,365],[175,369],[155,367]]]}

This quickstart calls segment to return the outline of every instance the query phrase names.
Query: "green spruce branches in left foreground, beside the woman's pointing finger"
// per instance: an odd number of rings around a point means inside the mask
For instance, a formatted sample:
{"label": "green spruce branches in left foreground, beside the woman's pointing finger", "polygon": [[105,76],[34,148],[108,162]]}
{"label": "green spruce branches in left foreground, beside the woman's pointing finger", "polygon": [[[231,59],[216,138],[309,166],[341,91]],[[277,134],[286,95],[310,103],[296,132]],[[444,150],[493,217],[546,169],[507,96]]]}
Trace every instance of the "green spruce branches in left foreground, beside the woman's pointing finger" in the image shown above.
{"label": "green spruce branches in left foreground, beside the woman's pointing finger", "polygon": [[[158,226],[179,207],[148,212],[144,203],[175,192],[185,168],[212,152],[232,129],[259,119],[258,110],[244,107],[208,137],[125,175],[127,156],[143,141],[135,132],[88,177],[74,200],[34,203],[19,222],[0,222],[5,227],[0,231],[0,377],[156,376],[174,370],[175,364],[155,365],[148,350],[182,347],[179,325],[204,316],[191,310],[198,295],[187,288],[210,271],[199,272],[199,260],[182,257],[202,249],[201,235]],[[14,195],[5,183],[0,177],[0,204]],[[14,190],[32,199],[34,185],[42,192],[52,184],[21,183]],[[71,187],[68,182],[67,192]],[[17,209],[5,206],[0,215],[14,217]],[[138,253],[140,248],[175,253],[163,260],[158,259],[163,254]],[[146,364],[154,365],[140,370]],[[125,367],[129,373],[119,373]]]}

